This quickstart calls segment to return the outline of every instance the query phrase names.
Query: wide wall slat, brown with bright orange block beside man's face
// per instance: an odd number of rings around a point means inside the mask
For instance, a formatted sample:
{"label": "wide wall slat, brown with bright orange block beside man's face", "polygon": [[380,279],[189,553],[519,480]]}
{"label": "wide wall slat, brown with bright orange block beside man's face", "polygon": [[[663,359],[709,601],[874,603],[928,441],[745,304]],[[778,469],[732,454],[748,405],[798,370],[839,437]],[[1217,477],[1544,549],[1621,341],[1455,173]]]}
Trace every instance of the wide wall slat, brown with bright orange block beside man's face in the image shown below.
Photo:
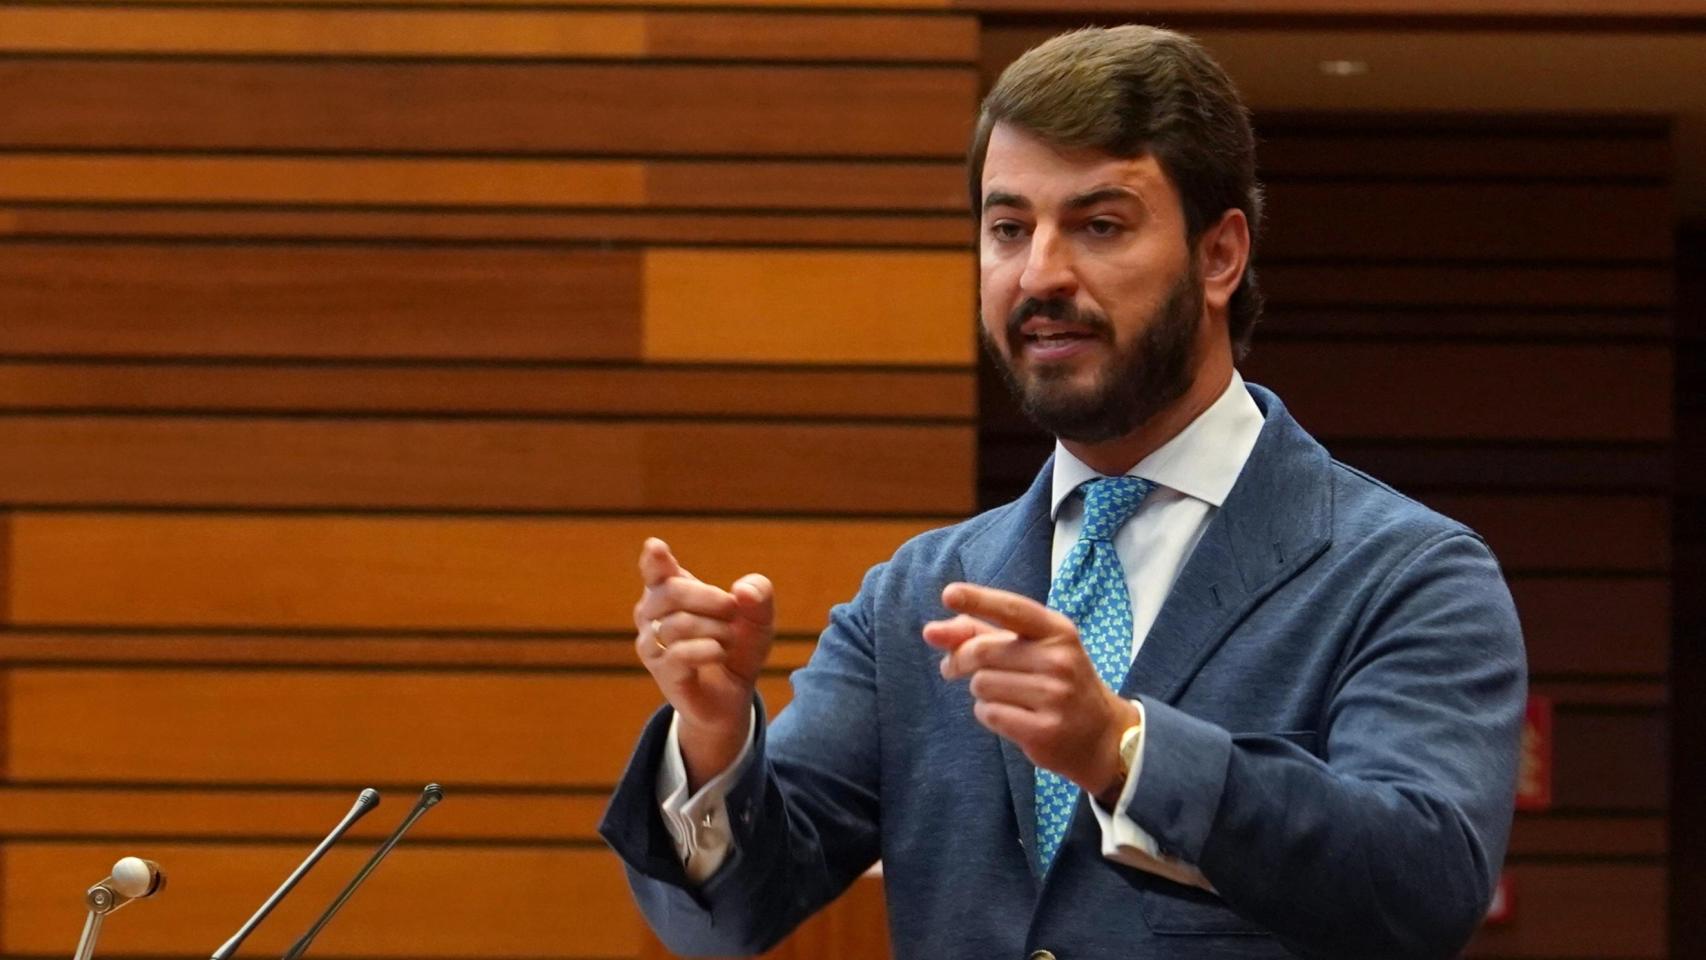
{"label": "wide wall slat, brown with bright orange block beside man's face", "polygon": [[0,351],[969,365],[969,271],[962,252],[15,244]]}

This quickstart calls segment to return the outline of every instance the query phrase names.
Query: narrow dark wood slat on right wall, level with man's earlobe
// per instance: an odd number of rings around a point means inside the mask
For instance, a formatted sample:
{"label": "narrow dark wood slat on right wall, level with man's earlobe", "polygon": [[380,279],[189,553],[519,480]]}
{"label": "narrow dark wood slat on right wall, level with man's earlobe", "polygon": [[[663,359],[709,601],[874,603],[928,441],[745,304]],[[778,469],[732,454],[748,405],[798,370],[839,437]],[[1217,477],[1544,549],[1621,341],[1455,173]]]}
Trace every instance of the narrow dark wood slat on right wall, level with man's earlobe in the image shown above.
{"label": "narrow dark wood slat on right wall, level with man's earlobe", "polygon": [[1285,310],[1302,307],[1658,309],[1670,304],[1665,266],[1356,266],[1268,263],[1262,285]]}

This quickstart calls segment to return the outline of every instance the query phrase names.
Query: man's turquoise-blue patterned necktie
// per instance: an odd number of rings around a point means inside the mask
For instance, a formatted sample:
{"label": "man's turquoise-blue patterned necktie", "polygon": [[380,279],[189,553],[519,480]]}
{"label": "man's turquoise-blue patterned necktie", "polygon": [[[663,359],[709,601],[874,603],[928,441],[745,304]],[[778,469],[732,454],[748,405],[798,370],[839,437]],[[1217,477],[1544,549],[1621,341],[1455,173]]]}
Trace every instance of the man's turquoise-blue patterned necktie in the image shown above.
{"label": "man's turquoise-blue patterned necktie", "polygon": [[[1083,532],[1061,563],[1049,587],[1049,607],[1078,626],[1078,638],[1095,674],[1119,689],[1131,668],[1131,593],[1126,571],[1114,552],[1114,532],[1138,512],[1155,484],[1138,477],[1102,477],[1083,491]],[[1054,771],[1037,767],[1037,859],[1047,873],[1054,853],[1066,839],[1078,784]]]}

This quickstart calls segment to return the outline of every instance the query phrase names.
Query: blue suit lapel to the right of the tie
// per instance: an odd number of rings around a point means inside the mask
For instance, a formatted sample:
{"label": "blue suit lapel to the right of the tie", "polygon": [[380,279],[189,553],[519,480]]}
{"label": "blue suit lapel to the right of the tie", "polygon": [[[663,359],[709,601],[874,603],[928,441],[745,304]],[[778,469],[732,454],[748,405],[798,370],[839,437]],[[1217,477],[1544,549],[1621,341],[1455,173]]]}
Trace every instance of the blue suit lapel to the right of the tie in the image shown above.
{"label": "blue suit lapel to the right of the tie", "polygon": [[1262,409],[1261,437],[1167,593],[1121,696],[1177,701],[1239,621],[1327,547],[1331,459],[1276,396],[1249,389]]}

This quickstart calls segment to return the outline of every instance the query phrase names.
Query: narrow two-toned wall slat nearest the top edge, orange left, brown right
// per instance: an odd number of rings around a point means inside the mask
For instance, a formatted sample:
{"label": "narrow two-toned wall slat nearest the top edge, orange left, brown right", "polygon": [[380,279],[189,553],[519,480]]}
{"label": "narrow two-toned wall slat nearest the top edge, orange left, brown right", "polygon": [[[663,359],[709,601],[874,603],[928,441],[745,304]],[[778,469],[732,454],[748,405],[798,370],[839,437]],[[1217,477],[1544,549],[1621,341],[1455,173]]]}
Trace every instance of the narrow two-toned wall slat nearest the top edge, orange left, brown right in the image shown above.
{"label": "narrow two-toned wall slat nearest the top edge, orange left, brown right", "polygon": [[696,14],[503,9],[12,9],[0,51],[902,60],[978,56],[971,17]]}

